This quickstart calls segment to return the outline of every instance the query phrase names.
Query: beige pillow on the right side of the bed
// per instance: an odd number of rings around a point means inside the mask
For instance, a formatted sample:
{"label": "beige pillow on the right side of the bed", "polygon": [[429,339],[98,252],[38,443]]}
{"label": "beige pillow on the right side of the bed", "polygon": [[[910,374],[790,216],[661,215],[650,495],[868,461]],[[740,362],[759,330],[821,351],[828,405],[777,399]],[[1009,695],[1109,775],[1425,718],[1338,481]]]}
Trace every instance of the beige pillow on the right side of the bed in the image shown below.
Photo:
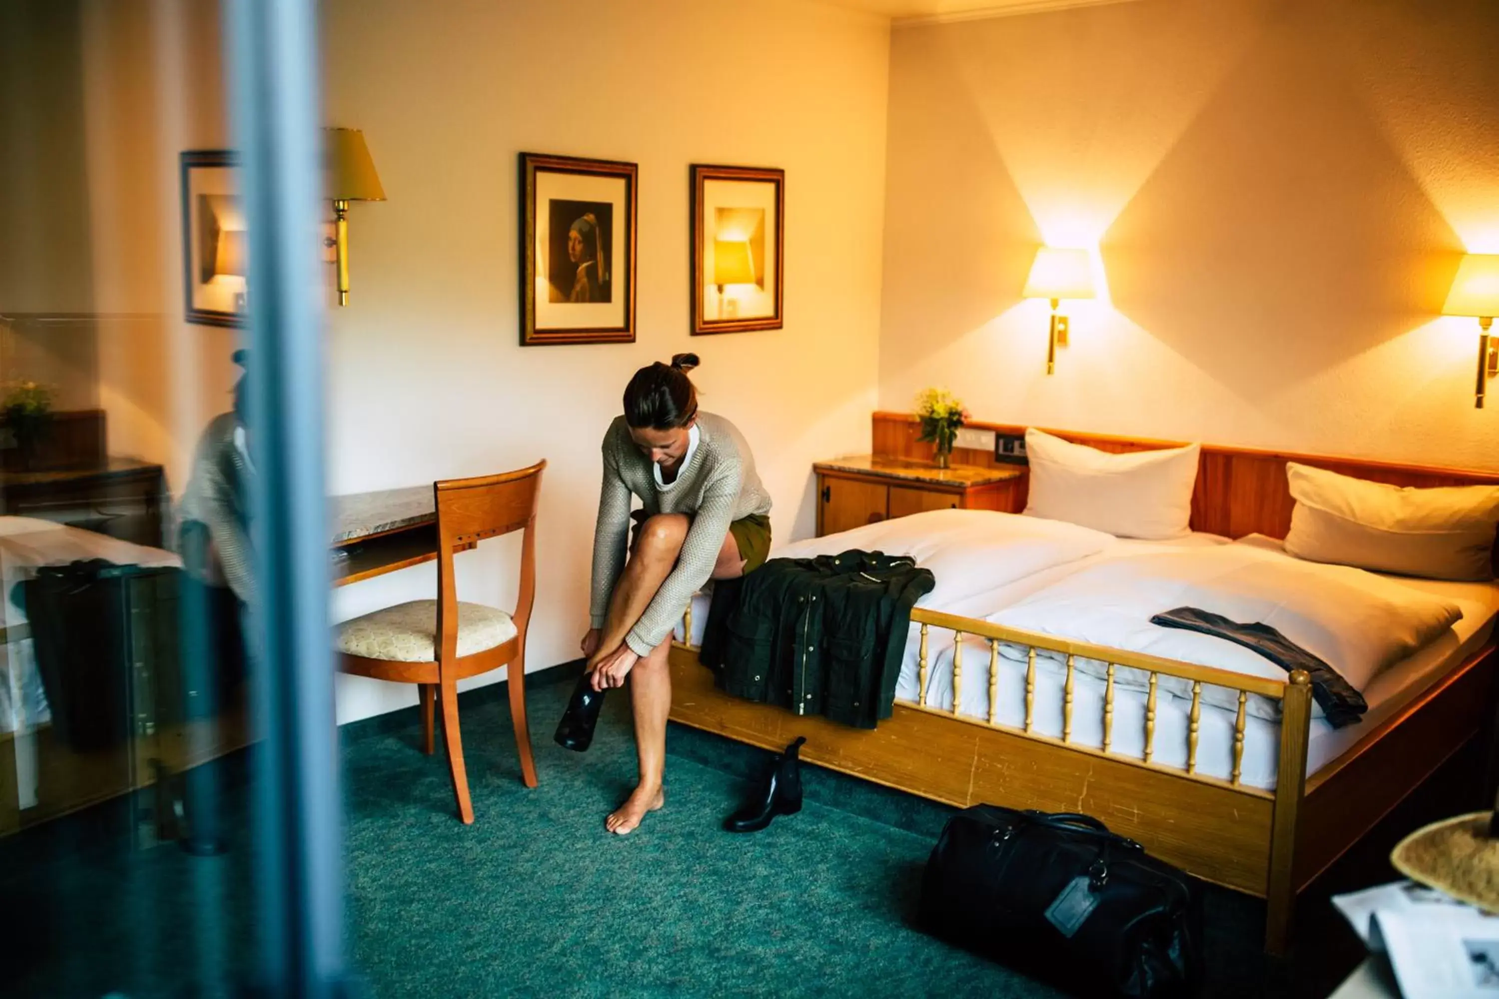
{"label": "beige pillow on the right side of the bed", "polygon": [[1286,551],[1312,562],[1432,580],[1492,580],[1499,487],[1418,490],[1289,461],[1297,500]]}

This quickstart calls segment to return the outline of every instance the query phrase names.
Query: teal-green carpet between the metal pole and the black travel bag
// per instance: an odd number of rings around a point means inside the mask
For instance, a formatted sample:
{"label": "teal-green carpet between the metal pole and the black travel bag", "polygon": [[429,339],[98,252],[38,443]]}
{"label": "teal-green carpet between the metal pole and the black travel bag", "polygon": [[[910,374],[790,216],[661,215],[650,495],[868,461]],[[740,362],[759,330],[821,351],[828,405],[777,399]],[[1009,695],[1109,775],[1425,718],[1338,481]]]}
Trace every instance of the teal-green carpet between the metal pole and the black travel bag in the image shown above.
{"label": "teal-green carpet between the metal pole and the black travel bag", "polygon": [[376,995],[1055,995],[905,924],[925,836],[815,801],[732,836],[747,785],[678,753],[666,809],[610,836],[634,783],[625,696],[573,753],[550,741],[567,695],[531,692],[535,789],[505,705],[463,716],[472,827],[414,725],[349,740],[349,924]]}

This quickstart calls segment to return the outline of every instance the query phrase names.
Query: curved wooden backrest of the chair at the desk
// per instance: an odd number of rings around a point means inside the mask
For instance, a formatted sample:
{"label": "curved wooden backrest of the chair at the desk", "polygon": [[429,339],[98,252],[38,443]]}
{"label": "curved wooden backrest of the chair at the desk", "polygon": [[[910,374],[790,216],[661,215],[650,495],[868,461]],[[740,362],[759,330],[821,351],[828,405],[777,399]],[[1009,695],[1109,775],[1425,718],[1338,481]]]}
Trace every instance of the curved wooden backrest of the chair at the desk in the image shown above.
{"label": "curved wooden backrest of the chair at the desk", "polygon": [[516,599],[516,631],[525,641],[531,607],[537,596],[535,524],[541,496],[541,470],[546,461],[529,469],[481,475],[471,479],[433,482],[438,508],[438,659],[457,656],[459,616],[453,556],[468,551],[486,538],[523,530],[520,544],[520,593]]}

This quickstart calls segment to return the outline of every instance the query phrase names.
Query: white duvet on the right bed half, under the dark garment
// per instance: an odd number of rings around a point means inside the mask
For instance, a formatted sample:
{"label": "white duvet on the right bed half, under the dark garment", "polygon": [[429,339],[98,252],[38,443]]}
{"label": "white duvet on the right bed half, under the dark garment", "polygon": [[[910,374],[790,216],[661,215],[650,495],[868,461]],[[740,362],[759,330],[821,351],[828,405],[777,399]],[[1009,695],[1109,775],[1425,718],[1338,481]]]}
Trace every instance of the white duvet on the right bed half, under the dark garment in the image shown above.
{"label": "white duvet on the right bed half, under the dark garment", "polygon": [[[1178,659],[1247,675],[1283,680],[1268,659],[1210,635],[1151,625],[1150,619],[1178,607],[1195,607],[1235,622],[1270,625],[1289,641],[1337,669],[1363,690],[1385,668],[1445,634],[1462,610],[1439,596],[1348,566],[1303,562],[1255,544],[1174,548],[1109,559],[1067,575],[988,620],[1112,649]],[[1024,659],[1022,647],[1001,655]],[[1040,652],[1048,668],[1061,656]],[[1102,677],[1105,664],[1076,666]],[[1115,669],[1115,684],[1144,687],[1147,675]],[[1190,698],[1190,683],[1160,677],[1157,690]],[[1204,701],[1229,710],[1238,695],[1205,687]],[[1279,702],[1250,698],[1249,710],[1279,716]]]}

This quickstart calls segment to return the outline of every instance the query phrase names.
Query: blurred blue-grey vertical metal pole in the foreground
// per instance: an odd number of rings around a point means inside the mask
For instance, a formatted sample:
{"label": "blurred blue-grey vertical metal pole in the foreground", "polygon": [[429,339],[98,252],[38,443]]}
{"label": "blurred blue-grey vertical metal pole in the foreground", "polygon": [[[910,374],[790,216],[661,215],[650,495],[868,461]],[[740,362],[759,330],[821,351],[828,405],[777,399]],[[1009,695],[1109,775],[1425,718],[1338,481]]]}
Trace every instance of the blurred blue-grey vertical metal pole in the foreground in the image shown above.
{"label": "blurred blue-grey vertical metal pole in the foreground", "polygon": [[262,987],[342,992],[343,875],[322,481],[313,0],[223,0],[249,229]]}

